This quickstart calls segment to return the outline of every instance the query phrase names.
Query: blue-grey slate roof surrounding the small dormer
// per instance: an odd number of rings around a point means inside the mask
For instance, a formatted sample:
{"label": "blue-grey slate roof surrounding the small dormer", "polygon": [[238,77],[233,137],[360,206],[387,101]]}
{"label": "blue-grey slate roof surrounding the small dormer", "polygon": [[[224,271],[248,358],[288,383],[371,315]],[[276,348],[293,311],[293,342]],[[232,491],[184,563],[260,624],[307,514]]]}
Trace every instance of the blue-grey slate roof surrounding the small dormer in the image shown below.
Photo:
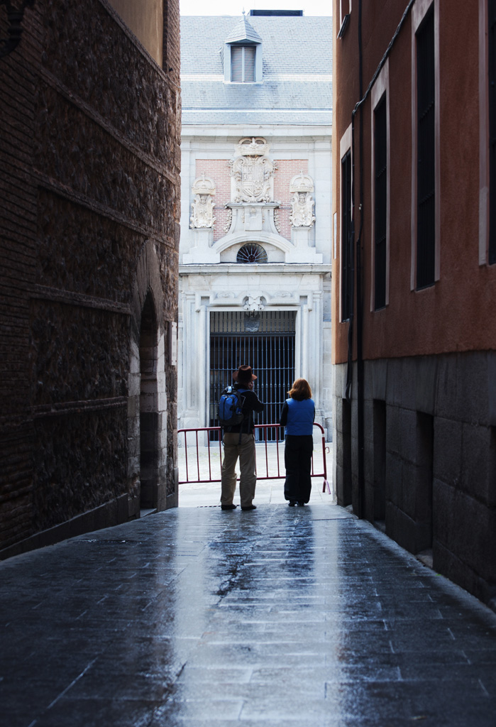
{"label": "blue-grey slate roof surrounding the small dormer", "polygon": [[251,16],[248,25],[262,42],[263,83],[224,84],[220,51],[245,20],[182,16],[182,123],[330,124],[332,18]]}

